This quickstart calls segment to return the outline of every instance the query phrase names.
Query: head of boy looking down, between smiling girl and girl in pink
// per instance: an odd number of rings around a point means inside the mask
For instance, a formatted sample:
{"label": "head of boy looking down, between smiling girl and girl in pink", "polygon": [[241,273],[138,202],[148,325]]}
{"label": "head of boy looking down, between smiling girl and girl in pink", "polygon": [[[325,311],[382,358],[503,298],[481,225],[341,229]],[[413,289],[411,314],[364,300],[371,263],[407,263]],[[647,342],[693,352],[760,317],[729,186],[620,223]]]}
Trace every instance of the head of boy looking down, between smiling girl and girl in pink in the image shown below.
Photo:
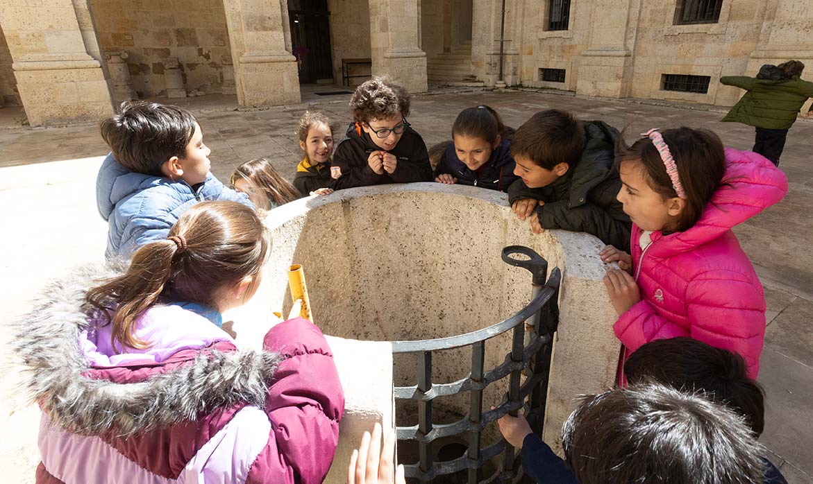
{"label": "head of boy looking down, between smiling girl and girl in pink", "polygon": [[511,137],[514,174],[528,188],[546,187],[567,174],[584,149],[585,128],[578,119],[562,110],[540,111]]}

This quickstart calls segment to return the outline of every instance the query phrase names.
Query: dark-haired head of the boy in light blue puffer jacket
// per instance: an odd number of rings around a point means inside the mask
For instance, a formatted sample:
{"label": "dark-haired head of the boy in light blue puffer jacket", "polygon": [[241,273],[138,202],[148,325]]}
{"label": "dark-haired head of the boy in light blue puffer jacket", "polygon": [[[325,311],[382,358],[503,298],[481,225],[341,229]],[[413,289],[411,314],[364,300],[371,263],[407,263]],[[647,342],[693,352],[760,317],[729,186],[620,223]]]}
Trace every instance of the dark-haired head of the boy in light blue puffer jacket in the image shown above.
{"label": "dark-haired head of the boy in light blue puffer jacket", "polygon": [[178,106],[124,102],[119,114],[102,121],[100,132],[115,160],[131,171],[193,186],[211,170],[200,125]]}

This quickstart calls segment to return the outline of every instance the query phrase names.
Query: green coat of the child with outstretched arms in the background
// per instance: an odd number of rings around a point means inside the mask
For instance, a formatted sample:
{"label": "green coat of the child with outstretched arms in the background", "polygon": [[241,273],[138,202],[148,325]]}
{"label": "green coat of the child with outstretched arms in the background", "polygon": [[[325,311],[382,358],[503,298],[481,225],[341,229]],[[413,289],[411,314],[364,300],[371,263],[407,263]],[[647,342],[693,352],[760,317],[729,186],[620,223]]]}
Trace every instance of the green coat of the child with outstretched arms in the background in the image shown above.
{"label": "green coat of the child with outstretched arms in the background", "polygon": [[813,97],[813,82],[800,80],[798,76],[788,80],[725,76],[720,82],[748,91],[723,121],[766,129],[789,129],[807,98]]}

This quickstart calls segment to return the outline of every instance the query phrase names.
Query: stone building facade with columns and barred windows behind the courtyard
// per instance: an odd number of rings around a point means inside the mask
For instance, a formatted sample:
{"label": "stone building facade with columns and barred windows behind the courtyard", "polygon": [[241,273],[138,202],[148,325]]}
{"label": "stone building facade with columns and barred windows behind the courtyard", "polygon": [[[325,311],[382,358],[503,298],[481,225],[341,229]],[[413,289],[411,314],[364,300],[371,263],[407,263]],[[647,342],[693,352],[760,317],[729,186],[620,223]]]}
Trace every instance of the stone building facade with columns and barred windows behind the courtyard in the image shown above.
{"label": "stone building facade with columns and barred windows behind the courtyard", "polygon": [[9,0],[0,102],[48,125],[98,119],[129,97],[292,104],[302,82],[375,74],[416,93],[502,80],[730,106],[741,91],[720,76],[813,65],[807,3],[505,0],[503,12],[502,0]]}

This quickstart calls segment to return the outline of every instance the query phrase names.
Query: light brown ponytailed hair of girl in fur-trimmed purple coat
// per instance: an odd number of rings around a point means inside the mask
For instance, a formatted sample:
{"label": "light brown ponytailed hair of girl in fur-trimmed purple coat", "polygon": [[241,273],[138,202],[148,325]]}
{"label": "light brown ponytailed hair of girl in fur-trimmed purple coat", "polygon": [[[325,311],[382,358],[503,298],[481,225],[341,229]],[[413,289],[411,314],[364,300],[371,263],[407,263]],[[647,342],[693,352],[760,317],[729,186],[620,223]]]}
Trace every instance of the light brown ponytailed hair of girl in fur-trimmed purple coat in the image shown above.
{"label": "light brown ponytailed hair of girl in fur-trimmed purple coat", "polygon": [[149,348],[133,335],[142,313],[164,301],[216,308],[224,290],[260,273],[271,246],[254,210],[236,201],[201,202],[180,216],[166,240],[139,248],[125,274],[85,297],[98,317],[113,325],[113,348],[116,343]]}

